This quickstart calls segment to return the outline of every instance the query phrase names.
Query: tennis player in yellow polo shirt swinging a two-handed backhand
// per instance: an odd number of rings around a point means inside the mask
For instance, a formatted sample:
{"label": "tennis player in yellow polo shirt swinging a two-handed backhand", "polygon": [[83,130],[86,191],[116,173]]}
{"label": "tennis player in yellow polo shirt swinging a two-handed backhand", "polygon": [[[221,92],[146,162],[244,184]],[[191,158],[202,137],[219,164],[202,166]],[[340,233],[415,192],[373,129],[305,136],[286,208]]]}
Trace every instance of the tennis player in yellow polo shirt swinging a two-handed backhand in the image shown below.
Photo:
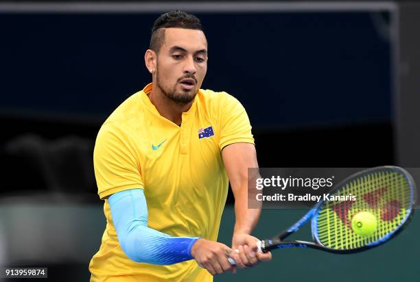
{"label": "tennis player in yellow polo shirt swinging a two-handed backhand", "polygon": [[[161,15],[145,66],[152,84],[124,101],[97,136],[107,222],[91,281],[212,281],[236,271],[229,257],[240,268],[270,260],[250,235],[260,209],[247,208],[247,170],[258,166],[248,116],[229,94],[200,89],[207,40],[198,18]],[[232,248],[215,242],[228,181]]]}

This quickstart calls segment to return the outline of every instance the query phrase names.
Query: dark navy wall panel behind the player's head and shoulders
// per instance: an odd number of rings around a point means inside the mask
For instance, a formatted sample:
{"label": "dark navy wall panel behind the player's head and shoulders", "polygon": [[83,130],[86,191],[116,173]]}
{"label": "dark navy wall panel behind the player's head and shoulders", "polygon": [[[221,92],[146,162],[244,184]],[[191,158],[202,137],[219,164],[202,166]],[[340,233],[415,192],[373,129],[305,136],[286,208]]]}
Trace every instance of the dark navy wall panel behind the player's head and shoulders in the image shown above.
{"label": "dark navy wall panel behind the player's head and shoulders", "polygon": [[[245,105],[255,129],[393,118],[388,12],[197,14],[209,41],[203,88]],[[1,14],[1,107],[106,117],[150,81],[155,14]]]}

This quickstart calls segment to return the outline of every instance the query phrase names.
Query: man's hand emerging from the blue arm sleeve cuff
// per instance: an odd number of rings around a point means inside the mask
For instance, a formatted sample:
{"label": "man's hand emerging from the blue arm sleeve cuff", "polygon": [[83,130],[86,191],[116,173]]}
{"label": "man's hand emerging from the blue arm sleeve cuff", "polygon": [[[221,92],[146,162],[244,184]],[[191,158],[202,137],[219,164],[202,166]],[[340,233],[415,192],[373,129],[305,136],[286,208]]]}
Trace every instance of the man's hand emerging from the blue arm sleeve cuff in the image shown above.
{"label": "man's hand emerging from the blue arm sleeve cuff", "polygon": [[205,239],[198,239],[191,248],[191,256],[196,259],[197,264],[212,275],[229,270],[236,272],[235,266],[228,261],[231,253],[234,252],[225,244]]}

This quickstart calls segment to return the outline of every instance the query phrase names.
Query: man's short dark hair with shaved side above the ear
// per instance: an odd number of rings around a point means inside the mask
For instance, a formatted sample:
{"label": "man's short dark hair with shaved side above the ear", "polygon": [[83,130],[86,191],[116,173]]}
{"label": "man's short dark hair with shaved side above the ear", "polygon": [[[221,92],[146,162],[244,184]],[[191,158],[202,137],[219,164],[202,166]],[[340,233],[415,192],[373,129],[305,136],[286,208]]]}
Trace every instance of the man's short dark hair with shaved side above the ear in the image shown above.
{"label": "man's short dark hair with shaved side above the ear", "polygon": [[187,14],[180,10],[161,14],[154,21],[149,49],[159,53],[159,49],[161,49],[163,42],[165,42],[165,28],[167,27],[202,30],[200,20],[194,14]]}

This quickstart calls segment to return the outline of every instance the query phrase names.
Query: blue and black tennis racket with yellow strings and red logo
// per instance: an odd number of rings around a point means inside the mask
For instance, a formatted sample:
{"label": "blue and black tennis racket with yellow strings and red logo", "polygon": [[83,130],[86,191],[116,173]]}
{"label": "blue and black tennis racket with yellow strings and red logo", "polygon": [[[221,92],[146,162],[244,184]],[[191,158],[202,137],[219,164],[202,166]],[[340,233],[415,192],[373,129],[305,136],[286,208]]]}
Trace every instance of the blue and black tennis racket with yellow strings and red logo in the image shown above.
{"label": "blue and black tennis racket with yellow strings and red logo", "polygon": [[[257,242],[258,251],[276,248],[315,248],[337,254],[366,251],[394,238],[410,222],[415,207],[415,181],[397,166],[381,166],[344,179],[330,195],[354,195],[354,201],[320,201],[303,218],[279,235]],[[337,197],[338,198],[338,197]],[[371,235],[359,235],[352,218],[368,211],[376,218]],[[313,242],[284,241],[311,221]],[[235,261],[229,258],[231,264]]]}

